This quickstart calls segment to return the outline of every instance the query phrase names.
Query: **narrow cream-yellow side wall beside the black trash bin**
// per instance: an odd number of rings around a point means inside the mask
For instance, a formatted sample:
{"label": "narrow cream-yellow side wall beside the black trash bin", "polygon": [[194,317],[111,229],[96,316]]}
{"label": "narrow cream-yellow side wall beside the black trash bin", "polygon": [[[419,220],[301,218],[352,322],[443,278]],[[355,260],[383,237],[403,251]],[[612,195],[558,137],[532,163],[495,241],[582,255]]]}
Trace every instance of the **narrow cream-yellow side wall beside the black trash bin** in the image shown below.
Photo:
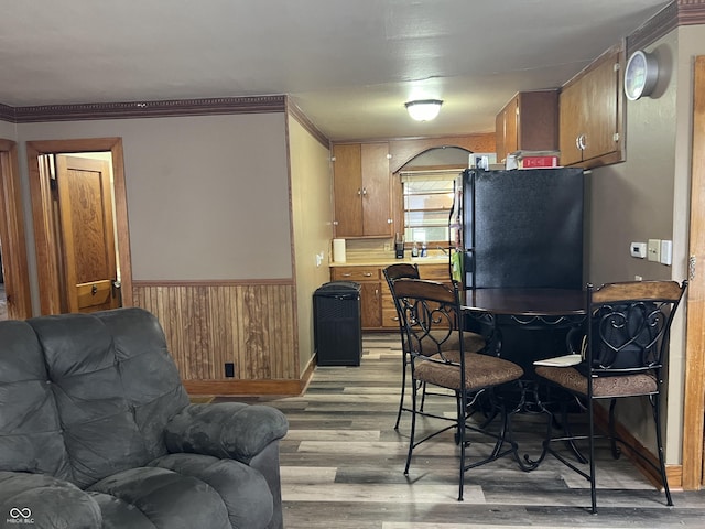
{"label": "narrow cream-yellow side wall beside the black trash bin", "polygon": [[[296,314],[302,373],[314,354],[313,293],[329,281],[333,205],[330,152],[289,118],[292,212],[295,241]],[[316,255],[321,255],[317,264]]]}

